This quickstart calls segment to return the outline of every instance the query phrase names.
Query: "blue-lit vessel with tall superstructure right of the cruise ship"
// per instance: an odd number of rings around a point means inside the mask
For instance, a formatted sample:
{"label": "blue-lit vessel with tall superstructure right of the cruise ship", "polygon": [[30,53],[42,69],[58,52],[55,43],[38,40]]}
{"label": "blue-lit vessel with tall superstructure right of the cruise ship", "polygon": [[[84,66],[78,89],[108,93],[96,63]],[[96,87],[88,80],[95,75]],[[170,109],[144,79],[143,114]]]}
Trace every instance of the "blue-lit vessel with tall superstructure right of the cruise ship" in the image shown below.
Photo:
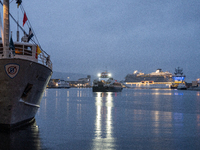
{"label": "blue-lit vessel with tall superstructure right of the cruise ship", "polygon": [[185,86],[185,75],[183,75],[183,69],[180,69],[179,67],[176,69],[174,75],[172,76],[173,83],[171,85],[171,89],[179,89],[179,90],[185,90],[187,89]]}

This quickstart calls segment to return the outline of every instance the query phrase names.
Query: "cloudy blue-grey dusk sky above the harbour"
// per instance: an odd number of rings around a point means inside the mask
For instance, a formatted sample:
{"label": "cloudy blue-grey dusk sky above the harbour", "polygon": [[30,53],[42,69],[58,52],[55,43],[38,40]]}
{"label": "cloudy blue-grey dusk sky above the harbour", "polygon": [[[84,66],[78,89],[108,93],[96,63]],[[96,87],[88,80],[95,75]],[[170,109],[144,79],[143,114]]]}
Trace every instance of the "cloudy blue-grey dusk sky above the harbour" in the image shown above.
{"label": "cloudy blue-grey dusk sky above the harbour", "polygon": [[[96,76],[107,70],[123,80],[135,70],[174,73],[181,67],[186,82],[200,78],[199,0],[23,0],[22,5],[53,71]],[[10,8],[16,15],[15,1]]]}

